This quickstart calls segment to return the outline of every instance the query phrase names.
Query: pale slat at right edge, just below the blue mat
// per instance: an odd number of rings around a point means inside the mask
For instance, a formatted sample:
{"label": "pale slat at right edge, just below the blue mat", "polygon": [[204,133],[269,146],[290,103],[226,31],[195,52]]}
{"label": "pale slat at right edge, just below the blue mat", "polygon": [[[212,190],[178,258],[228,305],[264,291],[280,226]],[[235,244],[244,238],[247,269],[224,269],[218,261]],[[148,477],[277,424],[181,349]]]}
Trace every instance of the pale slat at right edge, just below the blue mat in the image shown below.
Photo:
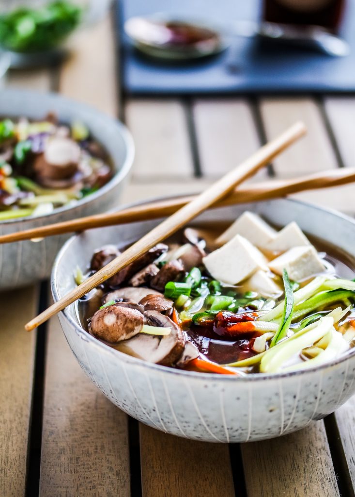
{"label": "pale slat at right edge, just below the blue mat", "polygon": [[328,97],[324,106],[343,164],[354,167],[355,97]]}

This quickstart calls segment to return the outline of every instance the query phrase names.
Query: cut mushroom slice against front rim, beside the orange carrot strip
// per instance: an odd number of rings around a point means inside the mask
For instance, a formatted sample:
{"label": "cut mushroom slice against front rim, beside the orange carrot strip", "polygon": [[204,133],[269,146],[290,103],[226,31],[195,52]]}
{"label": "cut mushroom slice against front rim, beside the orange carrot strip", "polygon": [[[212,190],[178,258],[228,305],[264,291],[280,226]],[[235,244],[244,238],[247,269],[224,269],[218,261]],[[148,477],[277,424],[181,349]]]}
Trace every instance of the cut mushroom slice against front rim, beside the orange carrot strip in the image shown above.
{"label": "cut mushroom slice against front rim, beside the orange carrot strip", "polygon": [[154,326],[170,328],[169,335],[163,337],[139,333],[130,340],[119,343],[115,348],[145,361],[164,366],[172,366],[180,357],[184,345],[183,331],[167,316],[157,311],[148,311],[149,320]]}

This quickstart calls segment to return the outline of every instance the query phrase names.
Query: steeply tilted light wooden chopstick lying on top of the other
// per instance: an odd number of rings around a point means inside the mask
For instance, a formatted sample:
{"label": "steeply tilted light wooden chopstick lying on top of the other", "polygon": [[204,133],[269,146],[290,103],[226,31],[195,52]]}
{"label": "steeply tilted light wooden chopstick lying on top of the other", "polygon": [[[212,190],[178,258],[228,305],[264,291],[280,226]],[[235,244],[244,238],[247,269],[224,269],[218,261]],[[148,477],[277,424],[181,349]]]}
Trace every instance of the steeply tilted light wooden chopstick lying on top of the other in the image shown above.
{"label": "steeply tilted light wooden chopstick lying on top of the other", "polygon": [[274,157],[280,154],[280,152],[287,149],[298,138],[303,136],[305,132],[306,128],[302,122],[295,123],[291,128],[261,147],[252,156],[239,164],[239,166],[232,169],[225,176],[207,188],[207,190],[203,191],[200,195],[153,228],[138,242],[127,248],[113,261],[81,283],[81,285],[71,290],[67,295],[59,299],[58,302],[54,303],[39,316],[32,319],[25,325],[25,329],[31,331],[38,327],[59,311],[62,311],[65,307],[72,304],[75,300],[109,279],[120,269],[133,262],[142,253],[149,250],[149,248],[152,248],[157,243],[175,233],[179,228],[184,226],[186,222],[196,217],[218,200],[221,200],[230,193],[235,186],[250,177],[261,167],[266,166]]}

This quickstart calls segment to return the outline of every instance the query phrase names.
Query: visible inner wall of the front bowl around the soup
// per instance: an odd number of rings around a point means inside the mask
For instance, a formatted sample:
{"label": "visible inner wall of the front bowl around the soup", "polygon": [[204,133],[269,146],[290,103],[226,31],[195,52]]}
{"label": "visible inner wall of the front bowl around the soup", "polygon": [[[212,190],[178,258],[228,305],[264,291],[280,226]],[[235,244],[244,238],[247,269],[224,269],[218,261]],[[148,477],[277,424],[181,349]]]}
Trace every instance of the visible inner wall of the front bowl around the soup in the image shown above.
{"label": "visible inner wall of the front bowl around the soup", "polygon": [[[290,199],[278,199],[267,202],[242,204],[231,207],[223,207],[218,209],[211,209],[201,214],[193,223],[204,222],[216,223],[233,222],[242,212],[250,210],[261,215],[267,222],[285,226],[291,221],[296,221],[299,227],[309,235],[319,238],[324,242],[333,246],[339,247],[350,256],[355,256],[355,222],[339,213],[324,210],[320,207],[306,204]],[[83,271],[87,270],[92,253],[96,248],[105,244],[117,244],[124,246],[132,243],[141,238],[150,229],[156,226],[159,220],[144,221],[139,223],[131,223],[122,226],[100,228],[97,230],[90,230],[80,235],[72,237],[63,248],[60,250],[56,263],[52,272],[52,292],[55,301],[64,296],[74,286],[73,274],[75,268],[79,266]],[[192,223],[189,223],[192,224]],[[99,342],[91,335],[84,331],[77,318],[77,311],[75,304],[72,304],[63,311],[67,320],[70,321],[73,331],[77,333],[84,333],[89,339],[94,340],[100,347],[110,349],[113,353],[126,361],[138,361],[144,363],[140,359],[129,357],[121,352],[111,349],[111,347]],[[108,351],[108,350],[106,350]],[[343,357],[349,357],[355,354],[355,348]],[[343,358],[338,359],[338,361]],[[148,363],[144,363],[148,365]],[[162,368],[155,364],[150,364],[149,367]],[[164,368],[169,370],[169,368]],[[184,372],[188,374],[195,374],[191,372]],[[201,373],[196,373],[201,374]],[[279,373],[282,375],[302,374],[302,370],[297,373]],[[220,375],[221,376],[221,375]],[[224,376],[224,375],[223,375]],[[269,376],[265,374],[248,375],[247,378],[259,378]],[[272,376],[275,376],[273,374]],[[224,380],[228,381],[231,377],[224,376]],[[243,380],[244,378],[242,378]]]}

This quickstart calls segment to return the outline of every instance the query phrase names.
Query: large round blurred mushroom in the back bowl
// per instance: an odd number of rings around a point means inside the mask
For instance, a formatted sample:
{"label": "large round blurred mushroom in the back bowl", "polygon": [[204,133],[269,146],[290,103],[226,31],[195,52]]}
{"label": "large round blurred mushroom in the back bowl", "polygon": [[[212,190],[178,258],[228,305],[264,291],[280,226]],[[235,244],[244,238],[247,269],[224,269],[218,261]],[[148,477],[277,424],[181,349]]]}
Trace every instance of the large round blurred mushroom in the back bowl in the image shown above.
{"label": "large round blurred mushroom in the back bowl", "polygon": [[74,140],[52,137],[46,141],[43,154],[36,157],[34,170],[39,179],[68,179],[78,170],[80,154],[80,147]]}

